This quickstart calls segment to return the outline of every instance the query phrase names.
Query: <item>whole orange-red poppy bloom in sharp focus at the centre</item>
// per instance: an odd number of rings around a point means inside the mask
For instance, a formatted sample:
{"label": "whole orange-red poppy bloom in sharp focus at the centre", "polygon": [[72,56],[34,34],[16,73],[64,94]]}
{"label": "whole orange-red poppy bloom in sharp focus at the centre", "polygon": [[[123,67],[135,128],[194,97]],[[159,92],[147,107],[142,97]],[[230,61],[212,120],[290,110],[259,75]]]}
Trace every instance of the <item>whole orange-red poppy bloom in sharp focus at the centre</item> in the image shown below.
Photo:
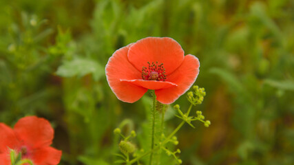
{"label": "whole orange-red poppy bloom in sharp focus at the centre", "polygon": [[116,50],[105,67],[107,81],[119,100],[136,102],[148,89],[171,104],[193,85],[200,63],[168,37],[147,37]]}

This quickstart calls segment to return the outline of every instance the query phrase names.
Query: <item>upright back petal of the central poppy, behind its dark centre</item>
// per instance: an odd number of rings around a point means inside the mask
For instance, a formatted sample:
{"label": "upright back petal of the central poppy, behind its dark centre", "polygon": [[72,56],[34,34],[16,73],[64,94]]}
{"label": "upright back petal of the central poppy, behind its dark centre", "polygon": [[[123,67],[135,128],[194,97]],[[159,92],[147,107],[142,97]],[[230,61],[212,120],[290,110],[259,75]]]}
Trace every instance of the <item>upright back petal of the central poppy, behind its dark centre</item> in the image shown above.
{"label": "upright back petal of the central poppy, behind its dark centre", "polygon": [[184,51],[180,44],[169,37],[147,37],[129,47],[129,62],[139,71],[148,63],[163,63],[165,72],[171,74],[184,61]]}

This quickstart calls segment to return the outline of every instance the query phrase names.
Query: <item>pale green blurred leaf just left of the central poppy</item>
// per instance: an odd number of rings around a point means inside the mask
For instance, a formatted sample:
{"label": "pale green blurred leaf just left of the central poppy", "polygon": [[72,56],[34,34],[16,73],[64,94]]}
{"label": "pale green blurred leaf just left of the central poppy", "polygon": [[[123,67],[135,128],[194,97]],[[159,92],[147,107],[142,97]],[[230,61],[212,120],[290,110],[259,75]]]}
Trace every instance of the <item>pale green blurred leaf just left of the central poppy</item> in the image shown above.
{"label": "pale green blurred leaf just left of the central poppy", "polygon": [[72,61],[65,61],[59,66],[56,74],[62,77],[83,77],[92,74],[94,80],[98,80],[104,74],[104,68],[96,61],[86,58],[75,58]]}

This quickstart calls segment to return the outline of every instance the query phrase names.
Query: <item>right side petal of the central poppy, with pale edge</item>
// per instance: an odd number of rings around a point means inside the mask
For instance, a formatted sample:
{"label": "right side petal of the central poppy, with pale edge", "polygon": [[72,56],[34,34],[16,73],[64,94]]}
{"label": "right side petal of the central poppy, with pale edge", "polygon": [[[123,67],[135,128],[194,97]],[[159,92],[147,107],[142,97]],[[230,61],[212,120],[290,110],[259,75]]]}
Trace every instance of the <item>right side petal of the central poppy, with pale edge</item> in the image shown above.
{"label": "right side petal of the central poppy, with pale edge", "polygon": [[182,65],[175,72],[167,76],[167,81],[178,86],[155,91],[157,100],[163,104],[171,104],[193,85],[199,74],[200,63],[198,58],[193,55],[185,56]]}

